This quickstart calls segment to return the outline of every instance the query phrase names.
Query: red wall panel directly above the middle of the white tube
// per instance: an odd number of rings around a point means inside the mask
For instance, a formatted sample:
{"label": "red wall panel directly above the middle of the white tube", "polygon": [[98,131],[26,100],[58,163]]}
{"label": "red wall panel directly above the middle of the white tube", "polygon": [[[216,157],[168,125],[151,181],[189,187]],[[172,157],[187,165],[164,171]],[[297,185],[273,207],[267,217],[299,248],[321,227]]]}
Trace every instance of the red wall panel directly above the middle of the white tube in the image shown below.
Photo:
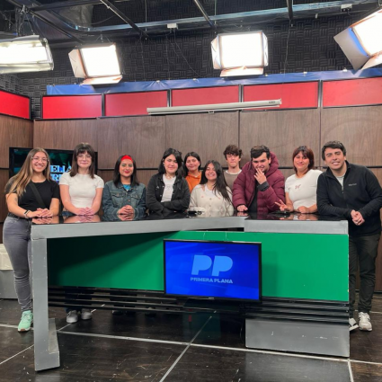
{"label": "red wall panel directly above the middle of the white tube", "polygon": [[172,93],[172,106],[208,105],[239,102],[239,86],[176,89]]}

